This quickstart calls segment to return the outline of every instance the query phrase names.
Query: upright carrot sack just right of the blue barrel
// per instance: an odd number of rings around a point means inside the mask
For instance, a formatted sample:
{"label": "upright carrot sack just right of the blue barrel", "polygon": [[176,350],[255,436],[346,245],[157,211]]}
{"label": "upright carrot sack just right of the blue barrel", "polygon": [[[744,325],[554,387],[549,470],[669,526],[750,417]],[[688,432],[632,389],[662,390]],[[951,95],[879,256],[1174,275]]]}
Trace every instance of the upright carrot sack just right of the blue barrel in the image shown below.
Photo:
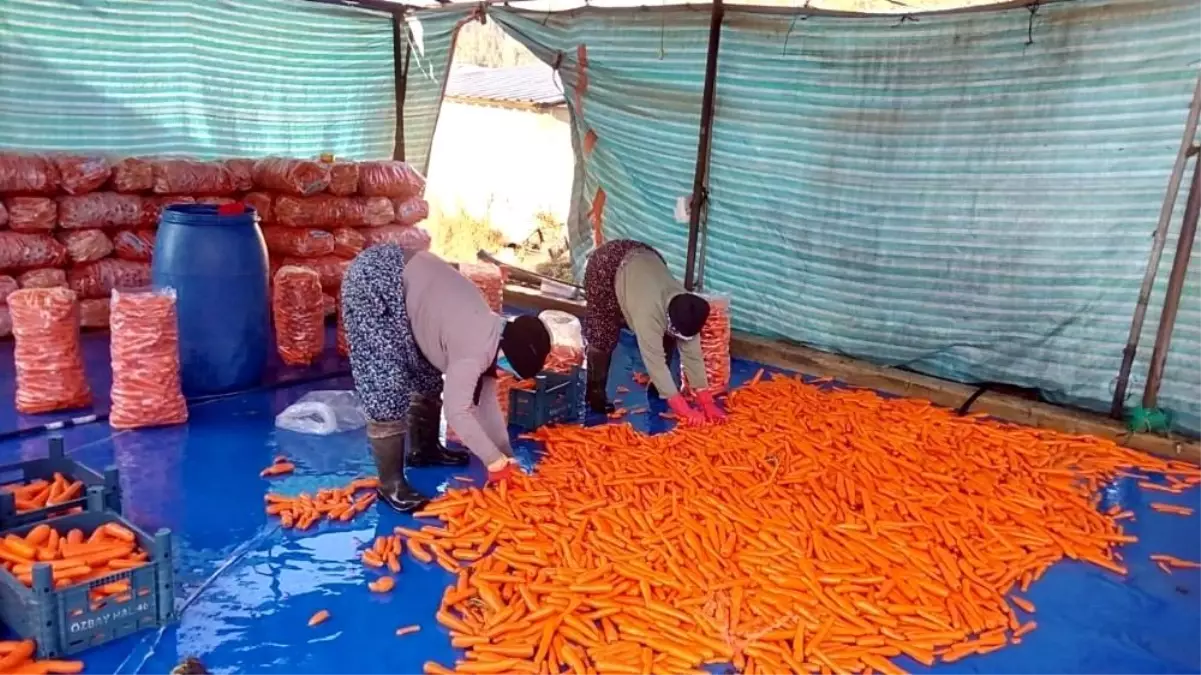
{"label": "upright carrot sack just right of the blue barrel", "polygon": [[321,275],[283,265],[271,286],[275,347],[287,365],[309,365],[325,350],[325,305]]}

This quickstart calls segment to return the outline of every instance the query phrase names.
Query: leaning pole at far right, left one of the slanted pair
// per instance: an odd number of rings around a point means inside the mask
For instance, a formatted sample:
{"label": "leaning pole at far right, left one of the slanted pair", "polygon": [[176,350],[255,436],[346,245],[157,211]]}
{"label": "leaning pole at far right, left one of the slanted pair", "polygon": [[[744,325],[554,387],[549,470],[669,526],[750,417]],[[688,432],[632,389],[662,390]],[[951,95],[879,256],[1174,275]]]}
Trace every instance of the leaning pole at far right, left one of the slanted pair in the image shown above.
{"label": "leaning pole at far right, left one of the slanted pair", "polygon": [[1147,305],[1151,303],[1151,292],[1155,286],[1159,261],[1164,256],[1167,228],[1172,225],[1172,209],[1176,207],[1176,198],[1181,192],[1181,181],[1184,179],[1184,168],[1196,138],[1199,120],[1201,120],[1201,74],[1197,76],[1196,86],[1193,88],[1193,104],[1189,107],[1189,117],[1184,123],[1181,150],[1176,154],[1172,177],[1167,180],[1167,195],[1164,196],[1164,205],[1159,209],[1159,222],[1155,223],[1155,235],[1151,243],[1151,258],[1147,261],[1147,271],[1143,273],[1142,286],[1139,288],[1139,303],[1135,304],[1134,317],[1130,319],[1130,335],[1127,338],[1125,348],[1122,350],[1122,368],[1118,370],[1117,386],[1113,388],[1113,405],[1110,407],[1110,416],[1113,419],[1122,419],[1122,412],[1125,408],[1130,370],[1134,368],[1134,358],[1139,353],[1139,339],[1142,336],[1142,324],[1147,319]]}

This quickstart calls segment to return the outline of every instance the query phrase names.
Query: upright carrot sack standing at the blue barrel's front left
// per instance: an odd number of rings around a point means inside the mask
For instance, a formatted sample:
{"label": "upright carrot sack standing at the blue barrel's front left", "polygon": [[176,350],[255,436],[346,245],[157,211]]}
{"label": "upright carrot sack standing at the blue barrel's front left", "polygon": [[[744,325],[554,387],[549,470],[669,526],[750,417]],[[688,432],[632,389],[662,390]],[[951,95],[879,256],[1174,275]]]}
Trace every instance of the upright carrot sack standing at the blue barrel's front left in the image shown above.
{"label": "upright carrot sack standing at the blue barrel's front left", "polygon": [[179,380],[175,292],[114,291],[112,299],[112,411],[114,429],[187,422]]}

